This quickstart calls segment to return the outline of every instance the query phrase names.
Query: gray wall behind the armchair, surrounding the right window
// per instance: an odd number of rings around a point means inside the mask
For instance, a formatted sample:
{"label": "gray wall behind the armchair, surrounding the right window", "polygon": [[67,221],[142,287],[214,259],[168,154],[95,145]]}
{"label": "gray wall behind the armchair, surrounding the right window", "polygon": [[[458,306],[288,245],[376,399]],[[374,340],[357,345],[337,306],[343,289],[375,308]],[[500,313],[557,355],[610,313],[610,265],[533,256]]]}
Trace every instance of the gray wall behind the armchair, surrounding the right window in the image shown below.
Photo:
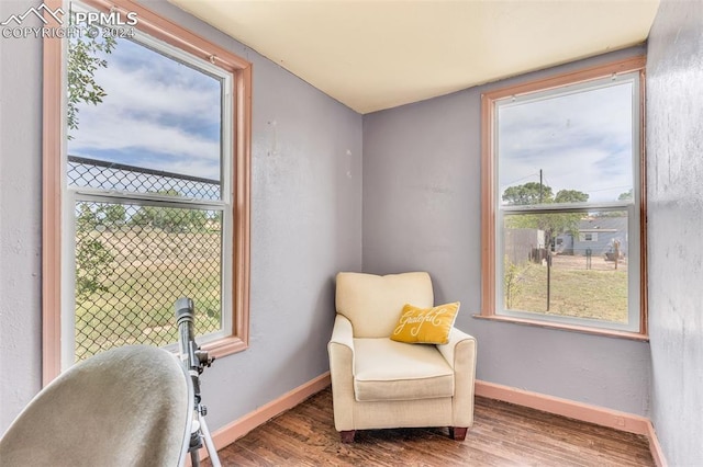
{"label": "gray wall behind the armchair, surrounding the right window", "polygon": [[479,379],[647,415],[648,343],[471,318],[481,303],[481,93],[545,73],[364,116],[364,270],[425,270],[436,303],[460,300]]}

